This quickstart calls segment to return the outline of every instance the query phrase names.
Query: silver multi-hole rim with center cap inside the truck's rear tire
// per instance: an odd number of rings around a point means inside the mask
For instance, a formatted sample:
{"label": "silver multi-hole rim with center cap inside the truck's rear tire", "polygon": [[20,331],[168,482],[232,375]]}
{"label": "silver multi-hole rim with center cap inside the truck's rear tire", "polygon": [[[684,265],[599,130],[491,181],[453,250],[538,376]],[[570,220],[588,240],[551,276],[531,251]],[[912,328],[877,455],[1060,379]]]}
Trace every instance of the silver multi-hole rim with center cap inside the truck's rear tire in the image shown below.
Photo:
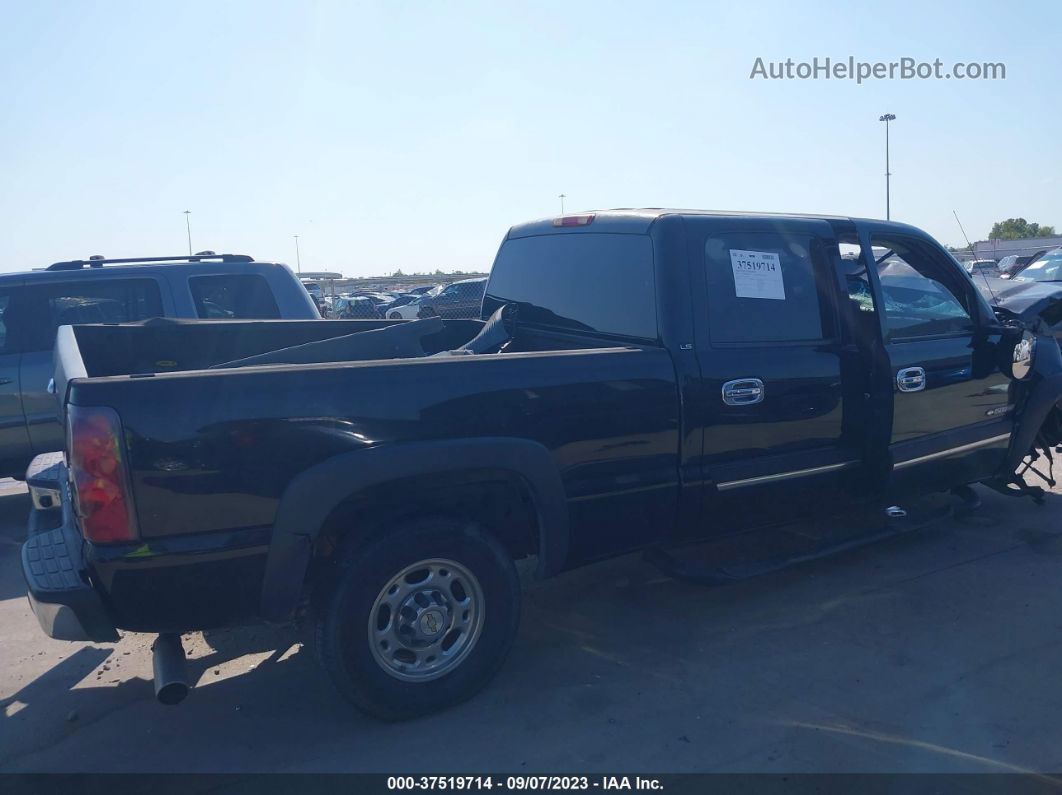
{"label": "silver multi-hole rim with center cap inside the truck's rear tire", "polygon": [[483,589],[467,568],[443,558],[418,560],[380,589],[369,613],[369,647],[396,679],[436,679],[475,647],[483,608]]}

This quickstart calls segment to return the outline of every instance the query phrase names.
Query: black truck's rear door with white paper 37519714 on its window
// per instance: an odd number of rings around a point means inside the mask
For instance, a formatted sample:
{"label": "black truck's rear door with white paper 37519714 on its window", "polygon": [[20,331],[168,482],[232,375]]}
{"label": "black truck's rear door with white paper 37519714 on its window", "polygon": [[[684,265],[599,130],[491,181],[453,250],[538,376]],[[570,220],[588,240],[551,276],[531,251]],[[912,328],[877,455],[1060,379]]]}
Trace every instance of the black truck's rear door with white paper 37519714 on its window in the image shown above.
{"label": "black truck's rear door with white paper 37519714 on its window", "polygon": [[825,221],[687,219],[709,532],[845,501],[861,466],[866,363],[839,317]]}

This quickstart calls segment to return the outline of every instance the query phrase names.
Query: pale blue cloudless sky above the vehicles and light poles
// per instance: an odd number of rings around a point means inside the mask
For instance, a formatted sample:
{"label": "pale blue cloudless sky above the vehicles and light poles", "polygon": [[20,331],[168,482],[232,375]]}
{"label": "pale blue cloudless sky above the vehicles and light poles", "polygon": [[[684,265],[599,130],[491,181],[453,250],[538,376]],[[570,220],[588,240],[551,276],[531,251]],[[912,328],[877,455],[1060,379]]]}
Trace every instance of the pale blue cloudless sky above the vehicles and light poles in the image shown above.
{"label": "pale blue cloudless sky above the vehicles and light poles", "polygon": [[[874,6],[878,7],[874,7]],[[247,253],[485,269],[513,223],[676,206],[1062,228],[1057,2],[2,0],[0,271]],[[754,59],[1005,81],[749,79]]]}

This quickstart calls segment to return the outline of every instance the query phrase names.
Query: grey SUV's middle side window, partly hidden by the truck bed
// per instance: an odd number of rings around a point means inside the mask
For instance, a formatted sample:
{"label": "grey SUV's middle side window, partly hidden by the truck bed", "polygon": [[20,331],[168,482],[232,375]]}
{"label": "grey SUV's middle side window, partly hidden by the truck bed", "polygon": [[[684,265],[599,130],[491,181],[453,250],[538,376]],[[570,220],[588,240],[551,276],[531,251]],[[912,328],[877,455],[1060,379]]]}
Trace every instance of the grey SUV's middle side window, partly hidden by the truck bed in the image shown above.
{"label": "grey SUV's middle side window, partly hidden by the truck bed", "polygon": [[18,318],[24,349],[49,350],[59,326],[132,323],[162,315],[162,298],[153,279],[84,279],[25,288]]}

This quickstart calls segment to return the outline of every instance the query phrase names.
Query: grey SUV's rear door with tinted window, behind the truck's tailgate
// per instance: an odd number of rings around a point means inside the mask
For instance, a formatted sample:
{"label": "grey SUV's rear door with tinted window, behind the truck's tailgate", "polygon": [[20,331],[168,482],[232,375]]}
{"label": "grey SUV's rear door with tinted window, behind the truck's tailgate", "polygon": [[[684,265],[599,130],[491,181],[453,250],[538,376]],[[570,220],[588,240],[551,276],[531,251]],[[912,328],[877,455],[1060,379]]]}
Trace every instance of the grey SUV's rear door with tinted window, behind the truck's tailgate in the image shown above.
{"label": "grey SUV's rear door with tinted window, behind the truck's tailgate", "polygon": [[33,454],[62,450],[64,444],[55,396],[48,393],[56,329],[164,316],[158,280],[108,276],[92,272],[90,278],[38,281],[24,288],[27,328],[19,378]]}

